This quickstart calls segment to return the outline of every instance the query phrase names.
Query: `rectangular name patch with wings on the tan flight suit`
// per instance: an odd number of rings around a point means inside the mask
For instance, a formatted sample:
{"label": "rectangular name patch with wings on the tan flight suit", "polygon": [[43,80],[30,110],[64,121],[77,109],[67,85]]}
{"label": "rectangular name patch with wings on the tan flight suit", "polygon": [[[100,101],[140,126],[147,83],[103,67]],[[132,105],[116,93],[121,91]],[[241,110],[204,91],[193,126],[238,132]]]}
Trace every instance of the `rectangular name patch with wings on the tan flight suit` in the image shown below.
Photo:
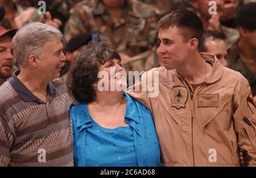
{"label": "rectangular name patch with wings on the tan flight suit", "polygon": [[218,107],[218,94],[199,94],[198,107]]}

